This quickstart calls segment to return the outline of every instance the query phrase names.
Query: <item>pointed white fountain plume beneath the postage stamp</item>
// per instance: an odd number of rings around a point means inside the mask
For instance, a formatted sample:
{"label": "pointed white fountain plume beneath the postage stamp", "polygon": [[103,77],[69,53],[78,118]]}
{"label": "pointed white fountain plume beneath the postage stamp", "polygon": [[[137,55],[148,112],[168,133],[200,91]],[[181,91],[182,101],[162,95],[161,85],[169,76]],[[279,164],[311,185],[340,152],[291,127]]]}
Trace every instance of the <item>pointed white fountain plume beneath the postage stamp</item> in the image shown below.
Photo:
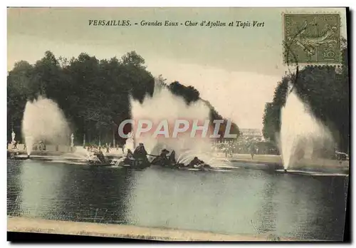
{"label": "pointed white fountain plume beneath the postage stamp", "polygon": [[313,116],[308,105],[298,98],[290,84],[286,94],[286,105],[281,109],[281,133],[278,138],[285,172],[300,159],[298,154],[310,159],[315,148],[333,144],[328,128]]}

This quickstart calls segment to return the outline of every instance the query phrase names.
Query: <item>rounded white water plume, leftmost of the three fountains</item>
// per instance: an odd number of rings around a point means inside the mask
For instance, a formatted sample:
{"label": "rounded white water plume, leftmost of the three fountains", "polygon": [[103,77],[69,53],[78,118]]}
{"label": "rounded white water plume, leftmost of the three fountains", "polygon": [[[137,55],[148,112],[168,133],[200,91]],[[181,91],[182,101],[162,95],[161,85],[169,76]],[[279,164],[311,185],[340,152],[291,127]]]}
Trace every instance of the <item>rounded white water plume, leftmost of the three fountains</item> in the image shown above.
{"label": "rounded white water plume, leftmost of the three fountains", "polygon": [[33,144],[40,140],[53,145],[68,143],[70,129],[63,111],[53,100],[38,97],[26,103],[22,120],[22,134],[25,137],[27,154]]}

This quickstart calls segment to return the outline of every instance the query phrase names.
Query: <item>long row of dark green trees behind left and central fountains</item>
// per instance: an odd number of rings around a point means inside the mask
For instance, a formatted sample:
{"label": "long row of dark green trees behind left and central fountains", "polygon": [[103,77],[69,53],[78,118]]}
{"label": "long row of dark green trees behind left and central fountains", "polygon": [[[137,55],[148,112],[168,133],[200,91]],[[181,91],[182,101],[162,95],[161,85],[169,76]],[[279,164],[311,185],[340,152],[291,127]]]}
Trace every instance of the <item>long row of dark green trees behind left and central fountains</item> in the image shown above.
{"label": "long row of dark green trees behind left and central fountains", "polygon": [[[200,99],[199,91],[179,82],[167,84],[159,78],[162,86],[184,98],[187,105]],[[66,115],[75,140],[91,143],[113,142],[122,144],[117,125],[130,119],[130,95],[135,100],[152,96],[155,78],[147,71],[145,59],[132,51],[122,58],[98,60],[95,56],[81,53],[78,58],[63,58],[51,51],[35,64],[20,61],[9,71],[7,77],[7,120],[8,140],[11,130],[16,140],[21,140],[21,122],[27,100],[38,95],[51,98],[58,103]],[[211,119],[223,119],[211,107]],[[125,130],[130,131],[130,127]],[[232,132],[239,134],[237,125]]]}

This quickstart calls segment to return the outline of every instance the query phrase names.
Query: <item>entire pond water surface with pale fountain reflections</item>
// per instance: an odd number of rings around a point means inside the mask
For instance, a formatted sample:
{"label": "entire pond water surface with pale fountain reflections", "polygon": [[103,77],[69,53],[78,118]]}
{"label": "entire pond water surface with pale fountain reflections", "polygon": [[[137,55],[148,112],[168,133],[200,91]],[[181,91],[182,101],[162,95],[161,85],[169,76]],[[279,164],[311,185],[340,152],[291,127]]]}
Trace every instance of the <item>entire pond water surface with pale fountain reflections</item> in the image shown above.
{"label": "entire pond water surface with pale fountain reflections", "polygon": [[342,239],[345,177],[8,162],[8,215]]}

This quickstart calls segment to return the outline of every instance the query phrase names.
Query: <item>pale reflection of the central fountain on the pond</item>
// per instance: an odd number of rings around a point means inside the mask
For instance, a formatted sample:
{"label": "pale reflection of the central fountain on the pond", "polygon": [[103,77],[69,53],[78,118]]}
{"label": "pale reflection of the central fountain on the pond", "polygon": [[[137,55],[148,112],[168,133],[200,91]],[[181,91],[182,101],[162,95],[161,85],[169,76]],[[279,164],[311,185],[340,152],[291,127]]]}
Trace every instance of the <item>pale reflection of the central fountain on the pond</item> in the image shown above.
{"label": "pale reflection of the central fountain on the pond", "polygon": [[266,180],[262,173],[146,170],[132,190],[130,219],[147,227],[256,233],[251,219],[263,201],[256,197]]}

